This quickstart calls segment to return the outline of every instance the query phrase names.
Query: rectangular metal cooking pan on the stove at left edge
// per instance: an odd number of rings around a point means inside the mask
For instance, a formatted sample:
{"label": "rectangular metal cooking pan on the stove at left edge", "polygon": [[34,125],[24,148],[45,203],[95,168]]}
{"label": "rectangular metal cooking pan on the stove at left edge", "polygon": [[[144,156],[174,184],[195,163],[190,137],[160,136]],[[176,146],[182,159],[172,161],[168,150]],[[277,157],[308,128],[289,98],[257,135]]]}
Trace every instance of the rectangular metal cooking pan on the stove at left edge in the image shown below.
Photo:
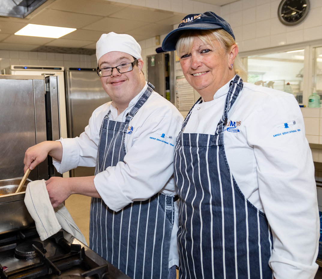
{"label": "rectangular metal cooking pan on the stove at left edge", "polygon": [[25,204],[25,189],[30,179],[15,193],[22,177],[0,180],[0,234],[24,229],[34,224]]}

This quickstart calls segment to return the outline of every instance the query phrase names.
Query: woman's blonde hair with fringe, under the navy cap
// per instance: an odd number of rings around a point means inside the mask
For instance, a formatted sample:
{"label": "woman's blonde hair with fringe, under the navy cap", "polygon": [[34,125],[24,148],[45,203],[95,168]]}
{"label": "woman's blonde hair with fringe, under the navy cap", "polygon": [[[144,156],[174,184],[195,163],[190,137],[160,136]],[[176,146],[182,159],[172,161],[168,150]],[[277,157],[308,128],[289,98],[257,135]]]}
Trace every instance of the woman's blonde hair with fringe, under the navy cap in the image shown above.
{"label": "woman's blonde hair with fringe, under the navy cap", "polygon": [[[195,37],[198,37],[202,42],[213,45],[212,40],[217,40],[221,46],[228,52],[232,45],[236,44],[234,38],[223,29],[211,29],[211,30],[188,30],[185,31],[177,41],[175,45],[178,56],[184,53],[190,53]],[[242,79],[247,78],[246,70],[240,61],[238,54],[235,58],[233,70]]]}

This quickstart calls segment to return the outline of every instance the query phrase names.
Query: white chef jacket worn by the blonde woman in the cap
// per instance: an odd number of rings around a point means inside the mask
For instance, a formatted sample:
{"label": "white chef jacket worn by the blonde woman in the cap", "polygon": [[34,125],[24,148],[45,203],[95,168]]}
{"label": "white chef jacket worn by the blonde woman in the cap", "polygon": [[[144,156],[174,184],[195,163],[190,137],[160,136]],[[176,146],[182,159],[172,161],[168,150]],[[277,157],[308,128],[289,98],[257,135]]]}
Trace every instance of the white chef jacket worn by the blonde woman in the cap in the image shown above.
{"label": "white chef jacket worn by the blonde woman in the cap", "polygon": [[[229,82],[195,105],[185,133],[214,135]],[[289,128],[287,128],[289,127]],[[224,131],[227,161],[245,197],[266,214],[276,279],[314,278],[319,214],[314,165],[303,116],[292,94],[243,83]]]}

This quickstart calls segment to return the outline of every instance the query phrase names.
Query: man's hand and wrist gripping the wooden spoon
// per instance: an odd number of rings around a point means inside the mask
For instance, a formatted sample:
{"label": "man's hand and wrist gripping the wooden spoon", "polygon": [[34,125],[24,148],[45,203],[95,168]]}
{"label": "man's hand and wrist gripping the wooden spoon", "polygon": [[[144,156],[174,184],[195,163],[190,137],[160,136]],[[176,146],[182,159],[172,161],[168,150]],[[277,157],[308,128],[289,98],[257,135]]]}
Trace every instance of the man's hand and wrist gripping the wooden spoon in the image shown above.
{"label": "man's hand and wrist gripping the wooden spoon", "polygon": [[62,160],[62,144],[60,141],[43,141],[29,147],[24,154],[24,173],[34,169],[50,155],[56,160]]}

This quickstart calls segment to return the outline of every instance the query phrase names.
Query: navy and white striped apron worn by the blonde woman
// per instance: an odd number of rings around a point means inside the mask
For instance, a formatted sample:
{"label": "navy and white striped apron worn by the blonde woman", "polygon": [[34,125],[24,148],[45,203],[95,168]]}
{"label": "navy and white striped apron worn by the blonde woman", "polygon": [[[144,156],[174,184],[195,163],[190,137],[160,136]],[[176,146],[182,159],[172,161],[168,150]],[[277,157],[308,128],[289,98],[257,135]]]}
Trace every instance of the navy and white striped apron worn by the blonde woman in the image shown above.
{"label": "navy and white striped apron worn by the blonde woman", "polygon": [[272,278],[269,224],[242,194],[224,150],[228,112],[241,89],[236,76],[214,135],[183,133],[191,110],[177,138],[179,278]]}

